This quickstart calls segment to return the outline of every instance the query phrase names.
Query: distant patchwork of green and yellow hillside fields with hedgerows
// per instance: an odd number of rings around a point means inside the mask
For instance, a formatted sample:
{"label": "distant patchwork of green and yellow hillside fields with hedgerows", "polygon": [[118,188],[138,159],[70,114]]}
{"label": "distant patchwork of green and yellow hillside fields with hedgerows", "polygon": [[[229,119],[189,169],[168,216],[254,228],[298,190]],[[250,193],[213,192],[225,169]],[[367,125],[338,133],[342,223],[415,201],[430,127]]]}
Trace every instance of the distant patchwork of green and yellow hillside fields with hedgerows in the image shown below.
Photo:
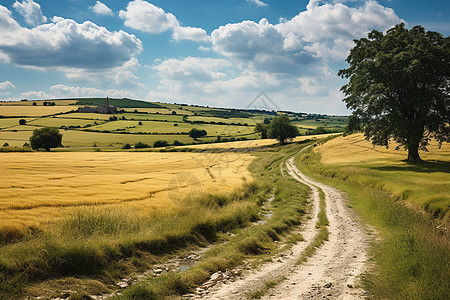
{"label": "distant patchwork of green and yellow hillside fields with hedgerows", "polygon": [[[0,142],[2,145],[8,143],[10,146],[21,147],[29,141],[33,130],[39,127],[59,128],[63,134],[65,147],[96,145],[117,149],[126,143],[134,144],[138,141],[152,145],[156,140],[166,140],[169,144],[175,140],[192,144],[194,142],[212,142],[218,136],[231,140],[258,139],[259,134],[254,133],[254,125],[263,122],[265,118],[271,120],[274,117],[237,109],[109,99],[110,105],[117,106],[119,110],[124,109],[124,112],[114,115],[118,120],[110,121],[113,116],[109,114],[70,112],[76,110],[78,106],[103,105],[104,98],[48,101],[55,102],[57,106],[44,107],[44,101],[35,101],[37,106],[32,106],[33,101],[1,103],[0,115],[3,112],[5,116],[10,116],[0,118]],[[61,111],[68,113],[54,114]],[[27,120],[27,125],[19,126],[20,118],[14,116],[23,116]],[[327,133],[326,131],[313,131],[319,126],[330,132],[343,131],[346,125],[345,117],[309,116],[316,118],[316,121],[314,119],[303,120],[298,116],[300,114],[290,114],[290,118],[299,127],[301,135]],[[194,141],[187,135],[193,128],[206,130],[207,136],[199,141]]]}

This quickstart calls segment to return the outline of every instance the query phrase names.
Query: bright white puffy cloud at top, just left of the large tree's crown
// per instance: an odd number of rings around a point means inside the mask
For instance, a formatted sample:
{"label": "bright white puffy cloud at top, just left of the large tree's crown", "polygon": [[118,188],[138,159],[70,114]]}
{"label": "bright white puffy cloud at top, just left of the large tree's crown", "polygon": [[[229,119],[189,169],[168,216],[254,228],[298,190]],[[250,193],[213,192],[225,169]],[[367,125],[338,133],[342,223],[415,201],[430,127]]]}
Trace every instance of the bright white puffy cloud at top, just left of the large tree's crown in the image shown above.
{"label": "bright white puffy cloud at top, just left of the large tree's crown", "polygon": [[319,2],[311,0],[306,11],[276,27],[284,36],[298,36],[306,50],[322,58],[344,59],[353,46],[353,39],[365,36],[372,29],[385,30],[403,22],[393,9],[373,0],[357,8],[342,3],[319,5]]}

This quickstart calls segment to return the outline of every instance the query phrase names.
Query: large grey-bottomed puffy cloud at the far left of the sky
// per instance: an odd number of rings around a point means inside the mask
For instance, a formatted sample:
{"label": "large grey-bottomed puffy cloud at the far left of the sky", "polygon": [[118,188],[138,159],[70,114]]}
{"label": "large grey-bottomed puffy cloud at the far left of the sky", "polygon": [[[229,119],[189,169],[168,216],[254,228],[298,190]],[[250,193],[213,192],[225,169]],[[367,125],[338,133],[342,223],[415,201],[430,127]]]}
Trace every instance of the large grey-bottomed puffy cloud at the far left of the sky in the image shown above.
{"label": "large grey-bottomed puffy cloud at the far left of the sky", "polygon": [[52,18],[52,22],[32,29],[17,26],[0,6],[0,57],[21,67],[38,69],[107,70],[132,59],[142,51],[142,42],[122,30],[108,31],[86,21]]}

